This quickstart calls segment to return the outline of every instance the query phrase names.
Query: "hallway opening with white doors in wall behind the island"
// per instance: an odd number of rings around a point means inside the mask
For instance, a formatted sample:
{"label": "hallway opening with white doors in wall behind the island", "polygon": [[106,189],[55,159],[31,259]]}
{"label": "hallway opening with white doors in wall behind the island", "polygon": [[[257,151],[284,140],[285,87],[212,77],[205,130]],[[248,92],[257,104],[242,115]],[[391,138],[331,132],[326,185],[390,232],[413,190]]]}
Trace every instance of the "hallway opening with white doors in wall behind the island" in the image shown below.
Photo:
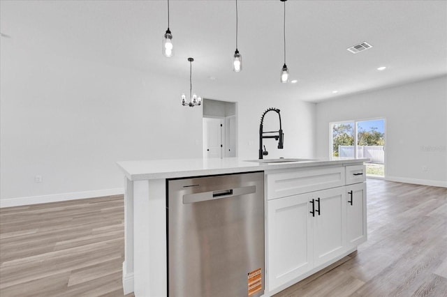
{"label": "hallway opening with white doors in wall behind the island", "polygon": [[236,103],[203,99],[203,157],[237,156]]}

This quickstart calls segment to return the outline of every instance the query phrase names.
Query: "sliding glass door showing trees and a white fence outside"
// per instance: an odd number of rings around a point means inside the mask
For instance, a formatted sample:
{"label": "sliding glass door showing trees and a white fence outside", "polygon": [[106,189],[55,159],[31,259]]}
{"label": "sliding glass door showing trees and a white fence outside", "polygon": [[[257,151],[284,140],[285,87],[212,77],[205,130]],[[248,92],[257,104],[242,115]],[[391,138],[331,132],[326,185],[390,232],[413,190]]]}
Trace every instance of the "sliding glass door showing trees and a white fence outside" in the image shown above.
{"label": "sliding glass door showing trees and a white fence outside", "polygon": [[369,158],[368,177],[385,177],[385,119],[330,123],[332,158]]}

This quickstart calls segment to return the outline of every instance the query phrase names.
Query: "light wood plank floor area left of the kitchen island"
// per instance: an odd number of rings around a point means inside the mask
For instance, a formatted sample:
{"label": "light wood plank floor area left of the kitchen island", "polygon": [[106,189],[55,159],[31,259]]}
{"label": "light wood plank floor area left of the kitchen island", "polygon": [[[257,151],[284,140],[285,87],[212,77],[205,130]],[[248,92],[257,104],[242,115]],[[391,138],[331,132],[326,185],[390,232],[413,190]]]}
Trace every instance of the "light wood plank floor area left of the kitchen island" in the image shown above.
{"label": "light wood plank floor area left of the kitchen island", "polygon": [[0,296],[123,296],[123,196],[0,209]]}

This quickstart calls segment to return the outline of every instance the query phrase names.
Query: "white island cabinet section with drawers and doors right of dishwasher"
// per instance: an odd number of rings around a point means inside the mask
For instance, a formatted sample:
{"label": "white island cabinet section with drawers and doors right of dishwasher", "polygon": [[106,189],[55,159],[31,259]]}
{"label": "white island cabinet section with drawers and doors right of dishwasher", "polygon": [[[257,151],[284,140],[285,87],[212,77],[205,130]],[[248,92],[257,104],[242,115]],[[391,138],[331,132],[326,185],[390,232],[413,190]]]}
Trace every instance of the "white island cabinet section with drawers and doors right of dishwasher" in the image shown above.
{"label": "white island cabinet section with drawers and doors right of dishwasher", "polygon": [[[271,296],[366,241],[363,165],[266,173]],[[357,182],[357,183],[356,183]],[[353,183],[353,184],[351,184]]]}

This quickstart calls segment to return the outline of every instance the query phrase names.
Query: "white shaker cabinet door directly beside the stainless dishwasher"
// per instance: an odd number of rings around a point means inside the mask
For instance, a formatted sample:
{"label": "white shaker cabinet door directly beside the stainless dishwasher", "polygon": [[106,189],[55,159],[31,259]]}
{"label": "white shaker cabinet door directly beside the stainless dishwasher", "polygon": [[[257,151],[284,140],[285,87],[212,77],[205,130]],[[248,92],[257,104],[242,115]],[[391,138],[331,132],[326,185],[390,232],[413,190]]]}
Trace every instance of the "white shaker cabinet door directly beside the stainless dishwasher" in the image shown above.
{"label": "white shaker cabinet door directly beside the stainless dishwasher", "polygon": [[272,291],[313,268],[309,194],[268,201],[268,284]]}

